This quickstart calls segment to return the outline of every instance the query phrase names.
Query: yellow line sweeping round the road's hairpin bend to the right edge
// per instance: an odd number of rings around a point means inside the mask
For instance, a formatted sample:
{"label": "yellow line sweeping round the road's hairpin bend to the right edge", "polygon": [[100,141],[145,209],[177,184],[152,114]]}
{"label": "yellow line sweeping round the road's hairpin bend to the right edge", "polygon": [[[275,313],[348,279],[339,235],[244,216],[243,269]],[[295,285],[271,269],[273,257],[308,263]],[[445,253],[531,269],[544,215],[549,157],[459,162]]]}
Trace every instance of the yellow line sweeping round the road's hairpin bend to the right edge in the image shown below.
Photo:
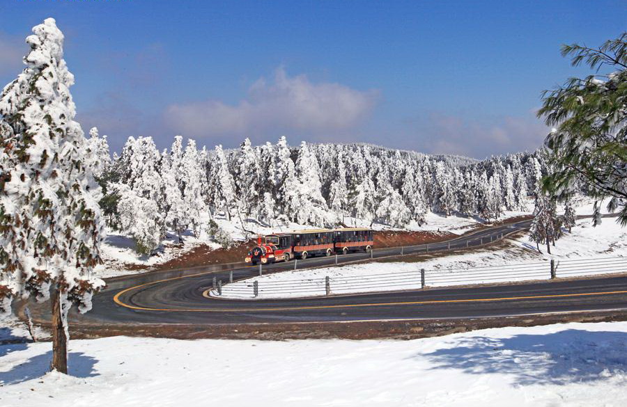
{"label": "yellow line sweeping round the road's hairpin bend to the right edge", "polygon": [[297,310],[323,310],[328,308],[359,308],[359,307],[384,307],[394,305],[428,305],[428,304],[440,304],[440,303],[473,303],[473,302],[491,302],[491,301],[522,301],[538,298],[566,298],[566,297],[580,297],[580,296],[600,296],[608,294],[627,294],[625,291],[610,291],[610,292],[589,292],[589,293],[571,293],[571,294],[550,294],[541,296],[516,296],[516,297],[495,297],[495,298],[466,298],[458,300],[429,300],[429,301],[403,301],[397,303],[365,303],[365,304],[337,304],[337,305],[308,305],[300,307],[274,307],[274,308],[146,308],[136,307],[134,305],[128,305],[120,300],[121,294],[130,291],[131,289],[144,287],[145,285],[138,285],[137,287],[127,288],[114,296],[114,301],[118,305],[130,308],[132,310],[144,310],[144,311],[170,311],[170,312],[266,312],[266,311],[297,311]]}

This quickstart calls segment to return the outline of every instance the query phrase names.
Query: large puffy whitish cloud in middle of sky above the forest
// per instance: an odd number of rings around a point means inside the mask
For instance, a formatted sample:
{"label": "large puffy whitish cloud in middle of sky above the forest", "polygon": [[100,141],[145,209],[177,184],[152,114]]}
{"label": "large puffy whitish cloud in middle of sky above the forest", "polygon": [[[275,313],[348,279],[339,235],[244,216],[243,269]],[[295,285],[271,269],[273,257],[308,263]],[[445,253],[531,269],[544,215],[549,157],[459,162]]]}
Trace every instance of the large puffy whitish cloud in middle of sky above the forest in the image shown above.
{"label": "large puffy whitish cloud in middle of sky above the forest", "polygon": [[378,93],[339,83],[311,83],[306,75],[288,77],[279,67],[274,81],[258,79],[247,99],[229,105],[219,100],[168,107],[165,121],[189,136],[263,134],[299,131],[321,134],[349,129],[368,117]]}

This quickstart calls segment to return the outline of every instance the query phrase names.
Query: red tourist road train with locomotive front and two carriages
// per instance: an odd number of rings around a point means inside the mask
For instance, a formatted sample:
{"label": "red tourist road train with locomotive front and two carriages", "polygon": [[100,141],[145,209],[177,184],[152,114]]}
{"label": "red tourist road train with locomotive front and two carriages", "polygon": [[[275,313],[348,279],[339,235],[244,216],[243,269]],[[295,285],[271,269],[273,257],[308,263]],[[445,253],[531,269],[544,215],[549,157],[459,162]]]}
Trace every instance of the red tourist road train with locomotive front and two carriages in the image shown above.
{"label": "red tourist road train with locomotive front and two carriages", "polygon": [[257,238],[257,246],[246,256],[249,264],[289,262],[315,255],[369,252],[374,246],[373,230],[366,228],[297,230]]}

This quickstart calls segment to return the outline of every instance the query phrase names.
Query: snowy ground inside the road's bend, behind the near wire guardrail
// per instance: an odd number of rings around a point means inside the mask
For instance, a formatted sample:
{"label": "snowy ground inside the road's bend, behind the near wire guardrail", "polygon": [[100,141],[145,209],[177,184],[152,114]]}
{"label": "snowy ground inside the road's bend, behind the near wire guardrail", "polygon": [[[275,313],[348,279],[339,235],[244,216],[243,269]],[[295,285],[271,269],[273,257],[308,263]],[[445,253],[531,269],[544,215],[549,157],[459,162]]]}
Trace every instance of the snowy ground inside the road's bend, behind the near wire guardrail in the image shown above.
{"label": "snowy ground inside the road's bend, behind the near wire guardrail", "polygon": [[[426,270],[428,287],[543,280],[550,278],[552,259],[556,261],[558,277],[627,272],[627,228],[616,223],[615,218],[603,218],[596,228],[589,218],[578,220],[572,232],[566,231],[557,246],[551,248],[551,255],[545,246],[540,246],[539,252],[526,234],[506,240],[509,248],[487,247],[424,262],[374,262],[268,274],[224,285],[222,298],[254,298],[255,280],[257,298],[324,296],[327,276],[333,294],[417,289],[421,287],[420,269]],[[217,296],[217,292],[210,295]]]}

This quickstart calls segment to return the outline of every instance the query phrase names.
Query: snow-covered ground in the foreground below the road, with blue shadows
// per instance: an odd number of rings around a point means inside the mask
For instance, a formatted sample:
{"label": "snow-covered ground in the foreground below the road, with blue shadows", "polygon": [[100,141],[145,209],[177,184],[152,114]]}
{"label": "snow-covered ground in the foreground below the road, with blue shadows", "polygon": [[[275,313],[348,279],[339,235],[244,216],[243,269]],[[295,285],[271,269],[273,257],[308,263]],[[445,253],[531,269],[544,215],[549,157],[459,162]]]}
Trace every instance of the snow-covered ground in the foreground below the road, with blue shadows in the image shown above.
{"label": "snow-covered ground in the foreground below the road, with blue shadows", "polygon": [[625,406],[627,322],[420,340],[70,341],[0,345],[1,406]]}

